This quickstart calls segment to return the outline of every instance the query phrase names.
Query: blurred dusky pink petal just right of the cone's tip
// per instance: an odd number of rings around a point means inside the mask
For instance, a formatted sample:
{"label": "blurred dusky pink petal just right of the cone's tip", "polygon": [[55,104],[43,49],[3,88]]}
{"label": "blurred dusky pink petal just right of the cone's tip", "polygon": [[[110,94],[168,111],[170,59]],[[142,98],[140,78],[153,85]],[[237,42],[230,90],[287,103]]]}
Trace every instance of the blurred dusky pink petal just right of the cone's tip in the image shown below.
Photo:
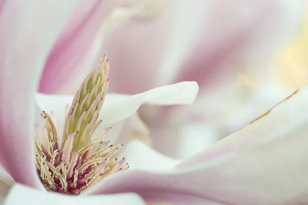
{"label": "blurred dusky pink petal just right of the cone's tip", "polygon": [[161,86],[156,84],[156,77],[167,57],[164,53],[171,26],[170,2],[163,2],[165,7],[158,16],[132,18],[108,38],[104,51],[110,59],[111,92],[136,94]]}

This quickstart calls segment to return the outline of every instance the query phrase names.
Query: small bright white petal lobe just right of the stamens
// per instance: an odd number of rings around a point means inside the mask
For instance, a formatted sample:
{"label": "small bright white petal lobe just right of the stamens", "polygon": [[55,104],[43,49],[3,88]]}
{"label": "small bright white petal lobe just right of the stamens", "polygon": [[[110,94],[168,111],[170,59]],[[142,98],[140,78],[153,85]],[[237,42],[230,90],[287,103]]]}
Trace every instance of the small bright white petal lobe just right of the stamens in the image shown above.
{"label": "small bright white petal lobe just right of the stamens", "polygon": [[179,160],[151,149],[139,140],[132,140],[119,152],[129,163],[129,170],[161,171],[175,167]]}

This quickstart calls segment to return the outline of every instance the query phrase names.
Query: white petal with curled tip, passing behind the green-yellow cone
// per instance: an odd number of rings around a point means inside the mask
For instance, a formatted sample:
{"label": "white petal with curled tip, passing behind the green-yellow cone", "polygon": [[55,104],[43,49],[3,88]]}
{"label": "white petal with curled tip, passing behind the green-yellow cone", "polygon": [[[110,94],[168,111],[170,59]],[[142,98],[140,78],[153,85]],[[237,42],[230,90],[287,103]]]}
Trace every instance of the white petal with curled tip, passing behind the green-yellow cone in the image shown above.
{"label": "white petal with curled tip, passing behind the green-yellow cone", "polygon": [[[108,93],[100,112],[99,119],[102,125],[113,124],[121,121],[134,112],[136,112],[142,104],[151,105],[188,105],[194,102],[198,85],[194,81],[185,81],[169,86],[155,88],[136,95]],[[46,112],[55,112],[59,116],[59,124],[64,122],[64,109],[66,105],[70,105],[73,96],[68,95],[46,95],[42,93],[36,94],[36,103],[39,108]]]}

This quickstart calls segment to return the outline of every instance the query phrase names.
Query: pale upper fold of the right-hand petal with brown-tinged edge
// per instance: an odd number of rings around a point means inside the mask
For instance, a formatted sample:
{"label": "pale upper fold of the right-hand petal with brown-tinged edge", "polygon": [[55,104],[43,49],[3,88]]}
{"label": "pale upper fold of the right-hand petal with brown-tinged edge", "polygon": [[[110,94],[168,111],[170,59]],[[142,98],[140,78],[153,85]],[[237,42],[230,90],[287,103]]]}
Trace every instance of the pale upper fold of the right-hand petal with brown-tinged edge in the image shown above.
{"label": "pale upper fold of the right-hand petal with brown-tinged edge", "polygon": [[185,166],[255,147],[296,130],[308,121],[308,86],[301,87],[271,110],[187,160]]}

